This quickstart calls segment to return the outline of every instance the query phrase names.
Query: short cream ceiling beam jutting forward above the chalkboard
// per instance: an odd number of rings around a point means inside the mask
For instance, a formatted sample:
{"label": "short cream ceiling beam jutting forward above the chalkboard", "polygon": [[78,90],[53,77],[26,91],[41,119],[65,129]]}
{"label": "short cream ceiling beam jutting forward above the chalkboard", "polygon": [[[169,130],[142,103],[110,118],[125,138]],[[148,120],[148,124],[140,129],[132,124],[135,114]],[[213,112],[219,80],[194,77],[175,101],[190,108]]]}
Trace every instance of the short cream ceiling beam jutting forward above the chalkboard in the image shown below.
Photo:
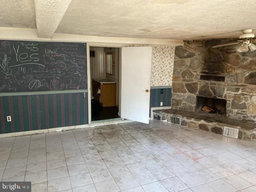
{"label": "short cream ceiling beam jutting forward above the chalkboard", "polygon": [[38,38],[51,38],[71,0],[34,0]]}

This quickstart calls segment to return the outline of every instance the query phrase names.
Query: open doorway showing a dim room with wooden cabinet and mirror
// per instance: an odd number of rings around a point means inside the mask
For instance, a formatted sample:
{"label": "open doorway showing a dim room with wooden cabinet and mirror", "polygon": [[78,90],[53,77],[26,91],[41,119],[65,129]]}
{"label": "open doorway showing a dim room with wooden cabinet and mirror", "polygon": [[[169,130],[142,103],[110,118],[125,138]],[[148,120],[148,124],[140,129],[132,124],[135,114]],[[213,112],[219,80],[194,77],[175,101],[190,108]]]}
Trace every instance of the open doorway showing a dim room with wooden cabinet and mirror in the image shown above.
{"label": "open doorway showing a dim room with wooden cabinet and mirror", "polygon": [[91,121],[120,118],[119,48],[90,46]]}

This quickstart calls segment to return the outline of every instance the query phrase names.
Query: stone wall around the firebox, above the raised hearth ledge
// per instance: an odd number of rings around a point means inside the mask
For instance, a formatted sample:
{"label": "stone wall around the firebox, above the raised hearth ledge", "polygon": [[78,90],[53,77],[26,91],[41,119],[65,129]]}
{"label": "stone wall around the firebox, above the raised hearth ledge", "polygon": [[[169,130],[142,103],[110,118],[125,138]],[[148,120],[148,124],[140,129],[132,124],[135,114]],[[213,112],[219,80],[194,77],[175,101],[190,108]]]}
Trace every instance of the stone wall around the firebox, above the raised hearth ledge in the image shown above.
{"label": "stone wall around the firebox, above the raised hearth ledge", "polygon": [[[225,40],[186,41],[177,46],[172,76],[172,108],[196,110],[196,96],[226,99],[230,118],[256,122],[256,51],[235,46],[211,48]],[[200,74],[225,76],[225,82],[200,80]]]}

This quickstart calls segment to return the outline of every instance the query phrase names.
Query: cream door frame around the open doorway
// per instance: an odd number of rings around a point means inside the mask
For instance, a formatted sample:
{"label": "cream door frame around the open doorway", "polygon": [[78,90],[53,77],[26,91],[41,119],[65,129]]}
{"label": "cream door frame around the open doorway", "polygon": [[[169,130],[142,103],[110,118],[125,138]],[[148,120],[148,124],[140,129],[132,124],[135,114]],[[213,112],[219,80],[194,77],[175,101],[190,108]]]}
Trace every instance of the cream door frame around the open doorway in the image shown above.
{"label": "cream door frame around the open doorway", "polygon": [[[115,47],[119,48],[119,85],[118,85],[118,91],[119,91],[119,110],[118,115],[120,116],[121,111],[121,56],[122,56],[122,47],[124,47],[125,44],[110,44],[110,43],[86,43],[86,55],[87,55],[87,90],[88,90],[88,124],[91,124],[92,122],[92,105],[91,105],[91,68],[90,68],[90,47]],[[122,119],[121,121],[123,121]],[[104,124],[108,124],[108,122],[104,122]]]}

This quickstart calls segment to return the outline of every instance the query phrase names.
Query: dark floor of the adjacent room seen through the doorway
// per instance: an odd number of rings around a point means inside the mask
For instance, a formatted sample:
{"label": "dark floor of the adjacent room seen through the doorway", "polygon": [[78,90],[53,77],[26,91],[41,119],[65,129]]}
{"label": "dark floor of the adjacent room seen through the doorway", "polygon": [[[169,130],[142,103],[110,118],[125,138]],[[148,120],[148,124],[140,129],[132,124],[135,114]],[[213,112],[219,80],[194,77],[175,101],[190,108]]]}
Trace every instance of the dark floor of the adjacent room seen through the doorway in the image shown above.
{"label": "dark floor of the adjacent room seen through the doorway", "polygon": [[120,118],[118,107],[102,107],[96,102],[92,102],[92,121]]}

